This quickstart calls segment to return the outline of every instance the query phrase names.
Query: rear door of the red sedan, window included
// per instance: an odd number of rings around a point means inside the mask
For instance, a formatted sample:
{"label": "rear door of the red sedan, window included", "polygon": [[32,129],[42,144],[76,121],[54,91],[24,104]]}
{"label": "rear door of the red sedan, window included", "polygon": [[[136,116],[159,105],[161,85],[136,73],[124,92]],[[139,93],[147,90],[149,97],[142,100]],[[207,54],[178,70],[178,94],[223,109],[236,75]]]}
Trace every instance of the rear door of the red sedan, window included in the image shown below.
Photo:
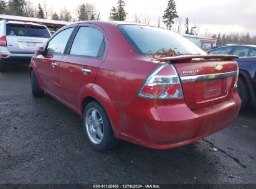
{"label": "rear door of the red sedan, window included", "polygon": [[80,24],[67,55],[60,63],[60,95],[78,109],[78,96],[94,83],[104,60],[106,42],[103,31],[93,24]]}

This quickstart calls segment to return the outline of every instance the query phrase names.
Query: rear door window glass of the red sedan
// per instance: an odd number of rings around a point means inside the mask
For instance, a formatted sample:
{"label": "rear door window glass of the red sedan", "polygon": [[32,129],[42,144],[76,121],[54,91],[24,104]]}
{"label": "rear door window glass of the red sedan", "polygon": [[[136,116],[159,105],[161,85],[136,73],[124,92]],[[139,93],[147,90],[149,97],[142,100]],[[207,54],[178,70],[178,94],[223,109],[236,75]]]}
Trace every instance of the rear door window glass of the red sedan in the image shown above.
{"label": "rear door window glass of the red sedan", "polygon": [[100,30],[93,27],[80,27],[73,40],[70,55],[100,58],[104,50],[105,41]]}

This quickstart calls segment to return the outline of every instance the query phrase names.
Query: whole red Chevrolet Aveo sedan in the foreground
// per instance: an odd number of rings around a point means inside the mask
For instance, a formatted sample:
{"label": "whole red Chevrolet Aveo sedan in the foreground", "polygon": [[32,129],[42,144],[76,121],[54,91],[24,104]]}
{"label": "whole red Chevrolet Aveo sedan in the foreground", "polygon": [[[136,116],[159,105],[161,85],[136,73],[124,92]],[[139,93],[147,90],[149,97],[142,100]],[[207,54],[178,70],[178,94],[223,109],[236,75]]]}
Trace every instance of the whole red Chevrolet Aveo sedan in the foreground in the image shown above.
{"label": "whole red Chevrolet Aveo sedan in the foreground", "polygon": [[32,94],[82,116],[95,149],[120,139],[169,149],[232,124],[240,109],[234,58],[206,55],[170,30],[91,21],[55,33],[29,71]]}

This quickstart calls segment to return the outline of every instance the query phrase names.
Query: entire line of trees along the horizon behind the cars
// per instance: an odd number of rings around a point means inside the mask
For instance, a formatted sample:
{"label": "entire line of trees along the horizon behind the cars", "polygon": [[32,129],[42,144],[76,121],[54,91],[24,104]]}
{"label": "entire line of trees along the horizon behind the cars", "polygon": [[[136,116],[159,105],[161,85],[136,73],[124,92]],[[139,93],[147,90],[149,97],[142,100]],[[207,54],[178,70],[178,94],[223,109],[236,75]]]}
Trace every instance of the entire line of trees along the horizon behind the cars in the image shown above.
{"label": "entire line of trees along the horizon behind the cars", "polygon": [[[111,21],[125,21],[128,12],[125,10],[125,0],[117,0],[116,6],[112,6],[109,19]],[[88,2],[78,4],[77,9],[70,12],[66,7],[61,7],[59,11],[54,11],[45,1],[38,3],[36,6],[29,0],[0,0],[0,14],[10,14],[14,16],[38,17],[41,19],[52,19],[56,21],[91,21],[100,19],[100,12],[97,11],[94,4]],[[163,25],[161,25],[163,20]],[[142,24],[150,24],[149,17],[145,15],[141,19],[141,14],[135,13],[134,22]],[[184,30],[184,34],[198,35],[200,26],[192,25],[190,27],[189,17],[183,19],[178,16],[175,0],[168,0],[166,10],[163,16],[158,17],[158,27],[166,27],[178,34]],[[207,37],[217,39],[217,45],[225,44],[256,44],[256,36],[251,37],[249,33],[239,34],[209,34],[206,31]]]}

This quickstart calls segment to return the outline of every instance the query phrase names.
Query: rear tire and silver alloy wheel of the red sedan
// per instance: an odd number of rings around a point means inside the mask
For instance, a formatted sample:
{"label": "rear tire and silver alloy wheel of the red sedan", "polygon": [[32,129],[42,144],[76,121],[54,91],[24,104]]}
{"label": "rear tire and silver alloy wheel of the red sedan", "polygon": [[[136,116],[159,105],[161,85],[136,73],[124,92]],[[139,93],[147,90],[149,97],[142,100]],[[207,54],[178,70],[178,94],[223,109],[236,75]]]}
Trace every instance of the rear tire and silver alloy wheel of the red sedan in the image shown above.
{"label": "rear tire and silver alloy wheel of the red sedan", "polygon": [[83,112],[83,129],[88,142],[96,150],[108,150],[115,147],[119,140],[115,138],[107,113],[102,106],[93,101]]}

